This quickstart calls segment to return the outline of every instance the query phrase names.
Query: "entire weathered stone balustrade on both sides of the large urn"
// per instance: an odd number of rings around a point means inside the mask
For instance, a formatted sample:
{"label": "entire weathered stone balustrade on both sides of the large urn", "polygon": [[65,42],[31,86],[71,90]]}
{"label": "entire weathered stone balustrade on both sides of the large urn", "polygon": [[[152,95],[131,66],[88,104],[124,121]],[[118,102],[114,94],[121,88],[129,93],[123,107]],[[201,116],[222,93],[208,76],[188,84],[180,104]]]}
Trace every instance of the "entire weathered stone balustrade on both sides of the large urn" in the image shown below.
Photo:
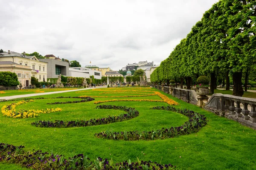
{"label": "entire weathered stone balustrade on both sides of the large urn", "polygon": [[[150,84],[150,86],[167,94],[172,94],[172,96],[175,96],[185,102],[198,105],[198,95],[194,90],[170,88],[167,86],[152,84]],[[248,105],[250,105],[251,111],[248,110]],[[209,98],[208,102],[203,105],[203,108],[219,116],[232,119],[241,123],[242,125],[256,130],[256,99],[238,97],[228,94],[213,94]]]}

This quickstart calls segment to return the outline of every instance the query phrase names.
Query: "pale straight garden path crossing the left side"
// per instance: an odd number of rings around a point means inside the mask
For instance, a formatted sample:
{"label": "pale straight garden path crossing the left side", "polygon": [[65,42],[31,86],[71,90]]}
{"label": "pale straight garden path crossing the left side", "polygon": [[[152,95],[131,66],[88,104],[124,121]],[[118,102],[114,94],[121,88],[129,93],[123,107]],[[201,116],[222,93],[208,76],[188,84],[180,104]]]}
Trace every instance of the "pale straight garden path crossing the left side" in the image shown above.
{"label": "pale straight garden path crossing the left side", "polygon": [[[96,88],[107,88],[107,87],[96,87]],[[58,93],[66,93],[66,92],[72,92],[72,91],[90,90],[90,89],[93,89],[93,88],[81,88],[81,89],[67,90],[67,91],[52,91],[52,92],[37,93],[37,94],[22,94],[22,95],[16,95],[16,96],[4,96],[4,97],[0,97],[0,101],[1,100],[24,98],[24,97],[32,97],[32,96],[42,96],[42,95],[47,95],[47,94],[58,94]]]}

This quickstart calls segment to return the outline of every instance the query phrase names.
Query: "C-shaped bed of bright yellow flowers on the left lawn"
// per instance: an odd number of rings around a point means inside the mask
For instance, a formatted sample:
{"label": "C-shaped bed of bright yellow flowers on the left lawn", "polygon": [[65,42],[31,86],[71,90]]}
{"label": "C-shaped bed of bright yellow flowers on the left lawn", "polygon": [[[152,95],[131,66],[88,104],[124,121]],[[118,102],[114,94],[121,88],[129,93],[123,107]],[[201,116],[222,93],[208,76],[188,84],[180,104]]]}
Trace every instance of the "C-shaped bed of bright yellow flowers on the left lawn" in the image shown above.
{"label": "C-shaped bed of bright yellow flowers on the left lawn", "polygon": [[34,100],[27,100],[27,101],[20,101],[20,102],[17,102],[17,103],[12,103],[12,104],[9,104],[9,105],[4,105],[2,108],[1,108],[1,112],[3,113],[4,116],[7,116],[7,117],[12,117],[12,118],[31,118],[31,117],[37,117],[38,114],[40,113],[53,113],[53,112],[57,112],[57,111],[61,111],[61,108],[55,108],[55,109],[42,109],[42,110],[28,110],[28,111],[25,111],[25,110],[19,110],[19,111],[16,111],[16,107],[18,105],[22,105],[24,103],[27,103],[27,102],[34,102]]}

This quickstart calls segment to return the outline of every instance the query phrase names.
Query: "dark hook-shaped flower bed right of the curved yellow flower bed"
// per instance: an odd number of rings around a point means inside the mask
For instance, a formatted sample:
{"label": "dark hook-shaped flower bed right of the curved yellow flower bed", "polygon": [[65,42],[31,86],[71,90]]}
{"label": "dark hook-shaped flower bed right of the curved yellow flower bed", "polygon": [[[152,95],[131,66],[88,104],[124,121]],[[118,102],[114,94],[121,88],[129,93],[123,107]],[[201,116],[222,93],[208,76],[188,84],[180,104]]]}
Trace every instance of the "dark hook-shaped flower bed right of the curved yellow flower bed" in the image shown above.
{"label": "dark hook-shaped flower bed right of the curved yellow flower bed", "polygon": [[135,108],[128,108],[125,106],[99,105],[96,107],[96,109],[123,110],[127,113],[121,114],[119,116],[108,116],[106,118],[80,120],[80,121],[55,120],[55,122],[51,122],[51,121],[40,120],[40,121],[32,122],[31,125],[36,127],[85,127],[85,126],[105,125],[105,124],[110,124],[114,122],[122,122],[124,120],[129,120],[139,116],[139,112],[135,110]]}

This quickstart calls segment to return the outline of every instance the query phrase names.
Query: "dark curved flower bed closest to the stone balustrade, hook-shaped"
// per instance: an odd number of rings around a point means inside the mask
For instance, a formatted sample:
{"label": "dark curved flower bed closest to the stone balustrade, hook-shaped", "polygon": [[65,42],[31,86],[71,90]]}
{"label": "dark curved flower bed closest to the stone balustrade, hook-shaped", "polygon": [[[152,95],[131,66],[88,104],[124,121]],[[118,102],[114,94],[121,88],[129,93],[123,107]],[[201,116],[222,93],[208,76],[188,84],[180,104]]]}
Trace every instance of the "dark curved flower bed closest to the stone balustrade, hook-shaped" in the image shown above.
{"label": "dark curved flower bed closest to the stone balustrade, hook-shaped", "polygon": [[167,107],[154,107],[153,110],[164,110],[178,112],[189,117],[189,121],[185,122],[182,126],[162,128],[159,130],[151,131],[124,131],[124,132],[111,132],[105,131],[96,133],[98,138],[114,139],[114,140],[154,140],[154,139],[168,139],[175,136],[186,135],[193,132],[198,132],[202,127],[207,124],[207,119],[204,115],[189,111],[188,109],[177,109],[172,106]]}

